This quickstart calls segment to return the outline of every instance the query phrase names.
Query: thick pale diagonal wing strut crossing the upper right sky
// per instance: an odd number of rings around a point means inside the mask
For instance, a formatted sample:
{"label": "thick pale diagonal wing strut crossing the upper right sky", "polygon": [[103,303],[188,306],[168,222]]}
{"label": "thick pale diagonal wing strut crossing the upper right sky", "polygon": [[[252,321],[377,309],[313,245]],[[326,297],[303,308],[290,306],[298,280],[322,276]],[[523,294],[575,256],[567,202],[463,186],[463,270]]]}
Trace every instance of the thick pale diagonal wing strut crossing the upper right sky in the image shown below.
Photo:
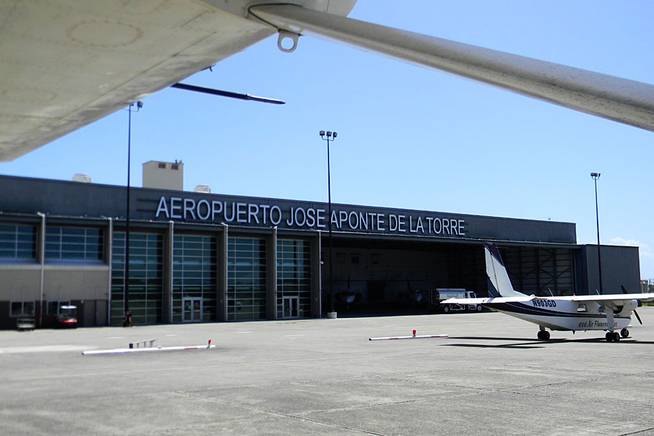
{"label": "thick pale diagonal wing strut crossing the upper right sky", "polygon": [[256,6],[250,13],[295,33],[317,33],[410,63],[433,67],[654,131],[654,86],[422,35],[292,5]]}

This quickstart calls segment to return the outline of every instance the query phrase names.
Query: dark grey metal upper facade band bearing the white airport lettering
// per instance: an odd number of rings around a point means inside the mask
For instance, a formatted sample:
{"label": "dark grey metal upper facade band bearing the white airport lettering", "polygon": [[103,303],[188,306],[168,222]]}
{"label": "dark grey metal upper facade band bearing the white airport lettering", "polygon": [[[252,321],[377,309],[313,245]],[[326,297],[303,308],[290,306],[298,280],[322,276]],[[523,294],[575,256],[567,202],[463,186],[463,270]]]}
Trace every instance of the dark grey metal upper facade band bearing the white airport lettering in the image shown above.
{"label": "dark grey metal upper facade band bearing the white airport lettering", "polygon": [[[0,211],[56,216],[125,217],[126,188],[72,181],[0,177]],[[168,223],[328,228],[321,202],[131,188],[131,219]],[[333,231],[349,234],[535,243],[576,243],[574,223],[333,204]]]}

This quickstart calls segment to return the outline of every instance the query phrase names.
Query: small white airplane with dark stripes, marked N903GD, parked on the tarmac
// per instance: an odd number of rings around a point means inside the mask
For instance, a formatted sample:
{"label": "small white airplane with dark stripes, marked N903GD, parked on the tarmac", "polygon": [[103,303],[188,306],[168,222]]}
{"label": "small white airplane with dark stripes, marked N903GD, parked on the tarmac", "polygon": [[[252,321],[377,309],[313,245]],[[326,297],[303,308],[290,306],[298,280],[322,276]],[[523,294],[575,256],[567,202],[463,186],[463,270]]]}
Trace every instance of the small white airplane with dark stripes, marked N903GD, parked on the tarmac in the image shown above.
{"label": "small white airplane with dark stripes, marked N903GD, parked on the tarmac", "polygon": [[[513,290],[507,268],[504,267],[500,251],[492,243],[484,243],[486,251],[486,274],[489,298],[450,298],[441,304],[477,304],[495,312],[502,312],[516,318],[538,324],[538,338],[550,339],[545,330],[605,330],[606,340],[619,341],[628,337],[631,314],[635,314],[638,301],[654,300],[654,293],[624,293],[589,296],[536,297]],[[617,332],[616,330],[620,330]]]}

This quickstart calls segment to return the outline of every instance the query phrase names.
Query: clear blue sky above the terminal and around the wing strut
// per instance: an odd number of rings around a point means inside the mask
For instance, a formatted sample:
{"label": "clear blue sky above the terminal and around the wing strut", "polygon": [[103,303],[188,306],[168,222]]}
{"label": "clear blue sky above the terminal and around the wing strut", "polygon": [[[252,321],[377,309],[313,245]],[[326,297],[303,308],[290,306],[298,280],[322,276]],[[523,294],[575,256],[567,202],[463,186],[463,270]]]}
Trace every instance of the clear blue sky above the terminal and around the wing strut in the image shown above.
{"label": "clear blue sky above the terminal and around the wing strut", "polygon": [[[351,17],[654,83],[654,2],[359,0]],[[321,129],[335,130],[333,202],[577,223],[596,242],[638,245],[654,278],[654,134],[334,42],[270,38],[186,83],[282,99],[275,106],[168,89],[132,118],[141,163],[184,161],[184,188],[327,200]],[[118,111],[0,173],[127,181]]]}

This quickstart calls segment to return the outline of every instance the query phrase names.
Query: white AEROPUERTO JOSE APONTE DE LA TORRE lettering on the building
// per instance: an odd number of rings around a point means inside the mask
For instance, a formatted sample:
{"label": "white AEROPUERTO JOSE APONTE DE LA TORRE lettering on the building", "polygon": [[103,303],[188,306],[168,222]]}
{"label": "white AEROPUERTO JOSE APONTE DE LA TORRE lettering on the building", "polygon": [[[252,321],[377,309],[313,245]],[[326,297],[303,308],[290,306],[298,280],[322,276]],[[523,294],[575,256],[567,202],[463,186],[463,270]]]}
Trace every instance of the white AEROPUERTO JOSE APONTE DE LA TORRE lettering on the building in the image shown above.
{"label": "white AEROPUERTO JOSE APONTE DE LA TORRE lettering on the building", "polygon": [[[328,211],[319,207],[196,200],[166,197],[159,199],[155,218],[193,220],[212,223],[280,226],[287,229],[328,229]],[[445,218],[430,213],[381,209],[353,210],[333,208],[332,229],[337,231],[384,232],[439,236],[465,236],[465,220]]]}

